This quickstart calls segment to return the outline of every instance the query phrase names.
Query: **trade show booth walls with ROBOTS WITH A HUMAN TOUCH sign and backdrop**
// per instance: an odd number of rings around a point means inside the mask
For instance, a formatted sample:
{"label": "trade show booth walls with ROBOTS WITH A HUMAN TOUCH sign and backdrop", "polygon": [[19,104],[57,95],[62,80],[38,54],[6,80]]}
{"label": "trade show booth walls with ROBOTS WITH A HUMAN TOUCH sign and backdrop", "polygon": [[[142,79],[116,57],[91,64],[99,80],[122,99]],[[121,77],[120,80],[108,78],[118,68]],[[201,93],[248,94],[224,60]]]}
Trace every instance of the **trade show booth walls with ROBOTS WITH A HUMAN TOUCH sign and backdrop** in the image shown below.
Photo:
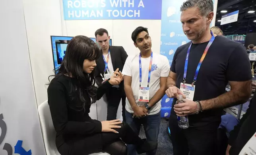
{"label": "trade show booth walls with ROBOTS WITH A HUMAN TOUCH sign and backdrop", "polygon": [[[38,106],[47,101],[48,77],[56,74],[68,42],[77,35],[95,40],[105,28],[110,44],[139,53],[131,39],[138,26],[148,28],[152,51],[166,56],[171,65],[176,49],[189,42],[180,23],[180,6],[186,0],[4,0],[5,23],[0,57],[0,154],[46,155]],[[217,0],[213,0],[214,10]],[[8,15],[8,16],[7,16]],[[215,23],[212,22],[213,26]],[[18,25],[18,26],[17,26]],[[15,36],[15,41],[13,41]],[[17,41],[18,40],[18,41]],[[14,63],[16,62],[16,63]],[[161,117],[169,118],[172,98],[161,99]],[[117,118],[122,120],[122,104]],[[92,104],[92,119],[106,120],[103,96]],[[169,129],[167,129],[169,131]]]}

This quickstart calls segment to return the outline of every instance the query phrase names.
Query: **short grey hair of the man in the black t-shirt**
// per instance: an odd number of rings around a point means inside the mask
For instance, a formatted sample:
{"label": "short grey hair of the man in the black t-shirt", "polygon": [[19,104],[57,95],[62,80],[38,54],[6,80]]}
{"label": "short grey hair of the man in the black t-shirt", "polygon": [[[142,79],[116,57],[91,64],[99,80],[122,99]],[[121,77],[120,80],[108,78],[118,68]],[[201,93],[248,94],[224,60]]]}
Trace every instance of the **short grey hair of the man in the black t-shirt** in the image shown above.
{"label": "short grey hair of the man in the black t-shirt", "polygon": [[207,17],[213,11],[212,0],[187,0],[180,7],[180,11],[185,11],[188,8],[196,6],[203,17]]}

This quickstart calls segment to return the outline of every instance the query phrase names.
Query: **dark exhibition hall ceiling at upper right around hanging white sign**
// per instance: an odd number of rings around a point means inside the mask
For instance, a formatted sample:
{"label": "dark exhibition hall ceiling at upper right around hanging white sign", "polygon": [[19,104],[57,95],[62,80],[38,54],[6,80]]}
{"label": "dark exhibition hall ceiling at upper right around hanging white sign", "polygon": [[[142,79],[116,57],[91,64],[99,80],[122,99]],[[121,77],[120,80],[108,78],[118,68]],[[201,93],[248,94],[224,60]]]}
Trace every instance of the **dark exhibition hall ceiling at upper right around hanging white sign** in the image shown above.
{"label": "dark exhibition hall ceiling at upper right around hanging white sign", "polygon": [[[226,13],[221,11],[226,10]],[[238,21],[221,25],[221,16],[239,10]],[[248,11],[255,11],[248,13]],[[254,22],[255,21],[255,22]],[[256,32],[256,0],[218,0],[216,23],[224,35],[246,34]]]}

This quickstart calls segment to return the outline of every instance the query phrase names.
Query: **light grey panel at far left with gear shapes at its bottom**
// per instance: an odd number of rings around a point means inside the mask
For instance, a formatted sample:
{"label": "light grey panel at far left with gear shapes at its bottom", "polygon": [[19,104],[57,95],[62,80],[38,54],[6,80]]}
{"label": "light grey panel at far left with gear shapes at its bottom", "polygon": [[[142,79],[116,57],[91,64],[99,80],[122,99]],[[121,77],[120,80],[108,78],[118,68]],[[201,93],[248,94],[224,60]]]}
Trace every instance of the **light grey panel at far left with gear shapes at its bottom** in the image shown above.
{"label": "light grey panel at far left with gear shapes at its bottom", "polygon": [[22,1],[2,0],[0,14],[0,155],[45,155]]}

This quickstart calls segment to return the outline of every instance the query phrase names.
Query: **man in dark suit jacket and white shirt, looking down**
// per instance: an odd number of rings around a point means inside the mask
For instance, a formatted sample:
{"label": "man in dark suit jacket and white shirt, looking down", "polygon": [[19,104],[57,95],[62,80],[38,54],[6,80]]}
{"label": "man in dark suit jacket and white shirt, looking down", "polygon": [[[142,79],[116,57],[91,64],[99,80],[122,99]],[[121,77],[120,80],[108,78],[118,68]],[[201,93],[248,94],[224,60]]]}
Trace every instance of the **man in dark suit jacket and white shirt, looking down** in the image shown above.
{"label": "man in dark suit jacket and white shirt, looking down", "polygon": [[[97,43],[99,43],[102,51],[102,56],[96,60],[97,66],[95,67],[95,79],[97,85],[101,85],[105,79],[110,78],[113,71],[119,68],[122,72],[126,58],[128,57],[126,51],[122,46],[109,46],[109,33],[104,28],[100,28],[95,32]],[[106,65],[107,64],[107,65]],[[125,121],[125,92],[124,81],[122,81],[117,87],[113,86],[111,90],[106,93],[108,109],[107,109],[107,121],[116,119],[116,112],[120,100],[122,98],[122,117]]]}

